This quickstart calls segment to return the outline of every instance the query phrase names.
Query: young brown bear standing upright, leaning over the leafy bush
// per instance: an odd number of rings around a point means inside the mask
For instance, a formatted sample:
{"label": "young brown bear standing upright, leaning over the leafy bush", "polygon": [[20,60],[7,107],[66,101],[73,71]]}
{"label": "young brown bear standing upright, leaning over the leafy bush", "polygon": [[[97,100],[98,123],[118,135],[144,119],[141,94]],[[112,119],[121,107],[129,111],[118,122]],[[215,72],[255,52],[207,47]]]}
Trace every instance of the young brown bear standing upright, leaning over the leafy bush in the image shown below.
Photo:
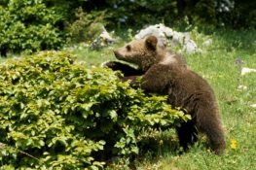
{"label": "young brown bear standing upright, leaning over the leafy bush", "polygon": [[114,51],[117,59],[138,66],[138,69],[119,62],[108,62],[107,67],[125,74],[123,80],[136,84],[141,76],[141,87],[147,92],[168,95],[172,107],[182,108],[192,119],[177,127],[180,146],[186,151],[198,140],[198,132],[206,134],[214,153],[225,149],[224,131],[213,90],[197,73],[187,68],[182,57],[158,46],[158,39],[150,36],[134,40]]}

